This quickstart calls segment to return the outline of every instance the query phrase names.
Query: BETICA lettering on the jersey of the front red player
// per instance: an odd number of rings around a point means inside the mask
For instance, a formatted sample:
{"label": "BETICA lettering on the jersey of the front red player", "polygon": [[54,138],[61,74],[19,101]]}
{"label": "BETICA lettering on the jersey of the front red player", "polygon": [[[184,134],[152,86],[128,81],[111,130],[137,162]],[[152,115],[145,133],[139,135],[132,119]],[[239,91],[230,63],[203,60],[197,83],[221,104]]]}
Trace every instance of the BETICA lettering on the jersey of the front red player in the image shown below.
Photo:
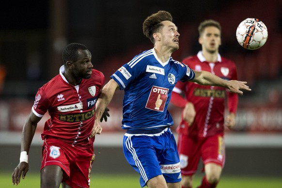
{"label": "BETICA lettering on the jersey of the front red player", "polygon": [[95,110],[76,114],[59,114],[59,120],[63,122],[82,122],[92,118],[95,115]]}

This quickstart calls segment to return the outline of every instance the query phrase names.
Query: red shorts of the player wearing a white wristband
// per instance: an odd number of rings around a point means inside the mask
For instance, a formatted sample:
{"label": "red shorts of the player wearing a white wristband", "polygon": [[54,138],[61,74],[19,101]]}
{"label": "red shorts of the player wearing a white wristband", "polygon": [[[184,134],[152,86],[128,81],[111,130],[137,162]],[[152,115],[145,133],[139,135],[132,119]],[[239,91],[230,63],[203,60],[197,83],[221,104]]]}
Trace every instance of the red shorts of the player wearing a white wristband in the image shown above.
{"label": "red shorts of the player wearing a white wristband", "polygon": [[72,188],[89,188],[95,158],[93,147],[80,149],[58,139],[45,139],[41,169],[57,165],[63,169],[63,182]]}

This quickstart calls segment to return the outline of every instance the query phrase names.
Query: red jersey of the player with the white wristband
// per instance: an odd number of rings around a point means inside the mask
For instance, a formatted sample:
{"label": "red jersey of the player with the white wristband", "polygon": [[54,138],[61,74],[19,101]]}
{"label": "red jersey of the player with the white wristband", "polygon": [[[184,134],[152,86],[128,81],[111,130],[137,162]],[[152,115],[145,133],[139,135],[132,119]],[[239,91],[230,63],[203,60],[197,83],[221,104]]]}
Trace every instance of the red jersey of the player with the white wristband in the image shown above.
{"label": "red jersey of the player with the white wristband", "polygon": [[89,79],[82,79],[78,86],[67,82],[60,74],[39,88],[32,107],[33,113],[43,117],[50,115],[41,133],[42,140],[52,137],[63,140],[72,146],[93,147],[94,137],[89,139],[94,121],[95,104],[104,84],[104,75],[92,70]]}

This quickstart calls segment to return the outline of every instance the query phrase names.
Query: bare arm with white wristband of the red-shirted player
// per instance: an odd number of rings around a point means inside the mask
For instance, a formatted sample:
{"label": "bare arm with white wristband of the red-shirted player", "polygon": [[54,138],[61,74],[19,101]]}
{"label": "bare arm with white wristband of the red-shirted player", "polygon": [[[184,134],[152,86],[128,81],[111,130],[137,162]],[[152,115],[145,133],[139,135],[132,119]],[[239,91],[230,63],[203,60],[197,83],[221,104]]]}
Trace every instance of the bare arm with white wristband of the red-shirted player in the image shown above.
{"label": "bare arm with white wristband of the red-shirted player", "polygon": [[29,171],[28,164],[28,154],[31,147],[31,141],[33,139],[37,123],[41,120],[40,117],[37,117],[32,111],[25,122],[22,130],[21,138],[21,154],[19,159],[19,164],[12,173],[12,182],[13,185],[18,185],[20,182],[20,177],[24,179],[26,173]]}

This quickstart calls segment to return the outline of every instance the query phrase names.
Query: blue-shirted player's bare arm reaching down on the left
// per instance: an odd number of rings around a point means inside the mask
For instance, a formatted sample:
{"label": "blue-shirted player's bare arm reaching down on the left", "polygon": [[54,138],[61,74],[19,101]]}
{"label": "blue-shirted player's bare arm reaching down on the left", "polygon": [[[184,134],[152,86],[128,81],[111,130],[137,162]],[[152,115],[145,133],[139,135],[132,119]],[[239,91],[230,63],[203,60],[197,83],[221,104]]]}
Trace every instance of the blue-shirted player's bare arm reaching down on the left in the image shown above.
{"label": "blue-shirted player's bare arm reaching down on the left", "polygon": [[110,104],[110,101],[113,97],[113,94],[116,90],[120,89],[118,83],[114,81],[113,79],[110,79],[110,81],[103,87],[99,98],[96,103],[96,117],[95,117],[95,123],[93,126],[93,129],[91,131],[90,138],[94,137],[95,134],[101,134],[102,127],[99,123],[99,120],[103,116],[103,113],[105,109]]}

